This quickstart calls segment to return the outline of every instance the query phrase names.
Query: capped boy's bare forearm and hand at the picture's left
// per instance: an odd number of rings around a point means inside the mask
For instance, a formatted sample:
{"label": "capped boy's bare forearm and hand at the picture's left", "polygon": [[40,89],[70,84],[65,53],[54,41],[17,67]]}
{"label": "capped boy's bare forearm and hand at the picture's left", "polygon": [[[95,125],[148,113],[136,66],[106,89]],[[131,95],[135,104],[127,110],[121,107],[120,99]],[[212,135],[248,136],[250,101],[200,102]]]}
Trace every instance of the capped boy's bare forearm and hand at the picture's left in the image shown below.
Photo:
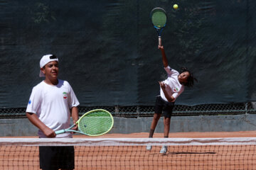
{"label": "capped boy's bare forearm and hand at the picture's left", "polygon": [[54,132],[54,130],[51,130],[50,128],[48,128],[48,126],[46,126],[38,117],[35,113],[26,113],[26,117],[28,118],[29,121],[31,121],[31,123],[33,125],[35,125],[38,129],[40,129],[44,135],[46,135],[46,137],[55,137],[56,134]]}

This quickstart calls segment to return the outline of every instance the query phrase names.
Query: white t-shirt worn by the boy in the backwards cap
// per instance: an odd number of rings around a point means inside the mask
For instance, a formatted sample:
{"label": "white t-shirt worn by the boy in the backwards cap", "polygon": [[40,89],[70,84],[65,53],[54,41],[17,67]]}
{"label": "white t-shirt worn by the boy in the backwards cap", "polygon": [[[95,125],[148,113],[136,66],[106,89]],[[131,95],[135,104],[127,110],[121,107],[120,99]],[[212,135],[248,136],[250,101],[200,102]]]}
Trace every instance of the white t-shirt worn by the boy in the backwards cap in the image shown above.
{"label": "white t-shirt worn by the boy in the backwards cap", "polygon": [[[68,81],[59,79],[55,86],[42,81],[33,87],[26,112],[35,113],[45,125],[56,131],[70,127],[70,108],[78,105],[78,98]],[[38,130],[38,136],[46,137],[41,130]],[[72,137],[72,134],[65,132],[56,137]]]}

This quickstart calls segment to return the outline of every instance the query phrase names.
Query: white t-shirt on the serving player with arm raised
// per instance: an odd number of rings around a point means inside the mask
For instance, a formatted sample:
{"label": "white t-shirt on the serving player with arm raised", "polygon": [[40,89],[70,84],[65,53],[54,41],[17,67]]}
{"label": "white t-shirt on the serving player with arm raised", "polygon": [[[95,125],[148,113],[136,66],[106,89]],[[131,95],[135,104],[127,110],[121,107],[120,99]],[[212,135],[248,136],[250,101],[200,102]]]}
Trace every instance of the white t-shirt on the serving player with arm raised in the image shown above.
{"label": "white t-shirt on the serving player with arm raised", "polygon": [[[184,86],[178,81],[179,73],[175,69],[171,69],[169,66],[165,67],[164,69],[168,75],[167,79],[164,80],[164,84],[166,84],[166,91],[169,96],[174,96],[176,99],[184,91]],[[166,96],[164,96],[164,91],[161,89],[161,87],[160,96],[164,99],[164,101],[168,101]]]}

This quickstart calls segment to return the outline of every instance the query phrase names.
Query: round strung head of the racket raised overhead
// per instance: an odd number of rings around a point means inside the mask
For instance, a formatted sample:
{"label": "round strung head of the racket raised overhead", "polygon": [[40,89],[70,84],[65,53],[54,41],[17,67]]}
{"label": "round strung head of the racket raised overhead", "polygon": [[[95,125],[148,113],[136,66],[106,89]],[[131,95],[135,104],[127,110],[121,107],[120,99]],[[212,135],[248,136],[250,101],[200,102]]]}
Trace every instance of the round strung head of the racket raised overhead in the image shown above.
{"label": "round strung head of the racket raised overhead", "polygon": [[166,13],[161,9],[155,9],[151,15],[151,21],[157,28],[163,28],[166,24]]}

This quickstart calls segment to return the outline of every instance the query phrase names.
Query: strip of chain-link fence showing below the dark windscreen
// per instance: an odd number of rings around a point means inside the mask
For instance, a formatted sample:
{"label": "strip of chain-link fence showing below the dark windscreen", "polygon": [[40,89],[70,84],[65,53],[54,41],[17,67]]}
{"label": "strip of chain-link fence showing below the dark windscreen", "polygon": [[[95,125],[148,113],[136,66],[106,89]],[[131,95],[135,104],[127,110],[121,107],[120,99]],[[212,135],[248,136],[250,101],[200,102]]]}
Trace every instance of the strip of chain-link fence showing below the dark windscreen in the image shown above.
{"label": "strip of chain-link fence showing below the dark windscreen", "polygon": [[[79,107],[80,115],[92,109],[102,108],[114,117],[142,118],[154,114],[154,106],[88,106]],[[0,108],[0,118],[26,118],[26,108]],[[174,106],[173,116],[188,115],[238,115],[256,114],[256,103],[203,104]]]}

